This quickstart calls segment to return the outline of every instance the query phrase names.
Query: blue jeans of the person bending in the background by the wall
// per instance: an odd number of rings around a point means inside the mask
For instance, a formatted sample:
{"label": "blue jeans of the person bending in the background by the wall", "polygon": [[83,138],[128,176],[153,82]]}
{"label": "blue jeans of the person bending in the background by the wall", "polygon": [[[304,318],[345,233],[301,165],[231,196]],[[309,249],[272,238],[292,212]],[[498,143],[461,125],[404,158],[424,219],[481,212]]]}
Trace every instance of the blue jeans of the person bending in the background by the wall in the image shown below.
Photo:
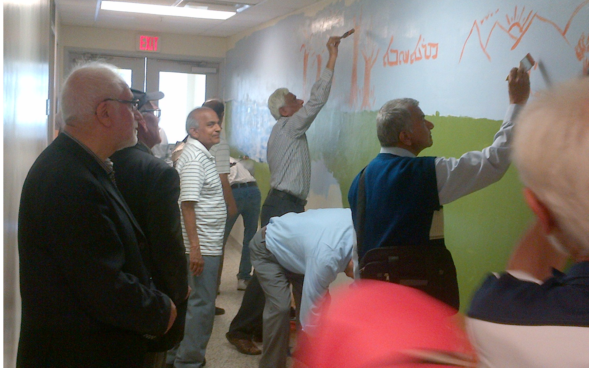
{"label": "blue jeans of the person bending in the background by the wall", "polygon": [[260,203],[262,201],[262,194],[257,185],[250,187],[233,188],[233,198],[237,204],[237,216],[227,219],[225,226],[225,238],[229,237],[229,233],[241,215],[243,217],[243,248],[241,248],[241,260],[239,261],[239,273],[237,279],[250,280],[252,279],[252,261],[250,260],[250,240],[254,237],[257,230],[257,220],[260,216]]}

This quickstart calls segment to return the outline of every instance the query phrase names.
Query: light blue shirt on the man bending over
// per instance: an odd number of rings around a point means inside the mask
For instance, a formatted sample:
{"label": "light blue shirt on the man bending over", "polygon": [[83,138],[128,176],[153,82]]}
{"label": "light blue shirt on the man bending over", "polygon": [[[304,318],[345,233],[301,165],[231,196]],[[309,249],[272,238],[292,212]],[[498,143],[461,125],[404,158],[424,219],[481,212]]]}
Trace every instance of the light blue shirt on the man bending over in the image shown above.
{"label": "light blue shirt on the man bending over", "polygon": [[352,259],[356,234],[349,208],[321,208],[270,218],[266,248],[280,266],[305,274],[300,305],[303,326],[315,320],[315,303]]}

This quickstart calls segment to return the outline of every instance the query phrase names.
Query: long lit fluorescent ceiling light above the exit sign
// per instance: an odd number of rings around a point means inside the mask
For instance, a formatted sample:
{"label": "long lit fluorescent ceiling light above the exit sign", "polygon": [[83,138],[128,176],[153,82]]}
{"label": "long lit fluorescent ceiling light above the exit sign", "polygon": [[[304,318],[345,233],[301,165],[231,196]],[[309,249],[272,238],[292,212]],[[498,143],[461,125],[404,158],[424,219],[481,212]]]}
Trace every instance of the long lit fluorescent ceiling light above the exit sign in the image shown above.
{"label": "long lit fluorescent ceiling light above the exit sign", "polygon": [[102,10],[131,12],[155,15],[188,16],[190,18],[227,19],[236,12],[226,12],[209,9],[178,8],[177,6],[138,4],[137,2],[102,1]]}

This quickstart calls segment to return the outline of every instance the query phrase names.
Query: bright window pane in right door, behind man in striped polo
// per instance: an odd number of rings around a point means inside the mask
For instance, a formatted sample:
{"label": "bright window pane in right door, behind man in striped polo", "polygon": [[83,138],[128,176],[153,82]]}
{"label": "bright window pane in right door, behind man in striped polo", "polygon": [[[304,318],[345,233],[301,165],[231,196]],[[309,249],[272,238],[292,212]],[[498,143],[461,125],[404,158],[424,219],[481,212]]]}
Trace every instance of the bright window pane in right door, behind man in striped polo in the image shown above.
{"label": "bright window pane in right door, behind man in striped polo", "polygon": [[160,91],[165,97],[159,101],[160,128],[171,144],[186,137],[186,116],[204,102],[206,75],[179,72],[160,72]]}

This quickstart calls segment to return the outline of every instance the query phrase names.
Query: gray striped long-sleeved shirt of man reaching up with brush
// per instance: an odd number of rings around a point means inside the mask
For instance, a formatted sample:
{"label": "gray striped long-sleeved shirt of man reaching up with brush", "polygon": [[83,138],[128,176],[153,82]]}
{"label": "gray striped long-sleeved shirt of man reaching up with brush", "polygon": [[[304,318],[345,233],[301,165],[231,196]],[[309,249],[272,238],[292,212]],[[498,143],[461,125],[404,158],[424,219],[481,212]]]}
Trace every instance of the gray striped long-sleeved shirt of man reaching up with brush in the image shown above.
{"label": "gray striped long-sleeved shirt of man reaching up with brush", "polygon": [[323,69],[313,84],[309,101],[291,117],[277,120],[268,139],[270,187],[302,200],[309,195],[311,185],[311,158],[305,132],[327,102],[332,76],[332,69]]}

